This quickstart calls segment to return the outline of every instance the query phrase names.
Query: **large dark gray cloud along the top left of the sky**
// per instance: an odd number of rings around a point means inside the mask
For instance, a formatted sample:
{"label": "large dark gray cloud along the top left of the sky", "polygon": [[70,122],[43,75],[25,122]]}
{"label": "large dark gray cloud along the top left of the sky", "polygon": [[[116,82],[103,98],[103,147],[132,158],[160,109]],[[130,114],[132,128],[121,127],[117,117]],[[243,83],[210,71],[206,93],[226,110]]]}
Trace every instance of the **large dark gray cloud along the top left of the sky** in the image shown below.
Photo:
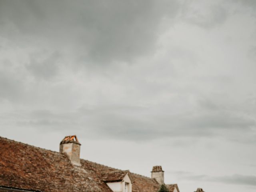
{"label": "large dark gray cloud along the top left of the sky", "polygon": [[17,26],[24,38],[36,35],[50,43],[75,44],[77,62],[107,64],[152,52],[161,19],[175,17],[178,8],[173,0],[101,4],[76,0],[61,5],[58,1],[1,1],[0,16],[2,23]]}

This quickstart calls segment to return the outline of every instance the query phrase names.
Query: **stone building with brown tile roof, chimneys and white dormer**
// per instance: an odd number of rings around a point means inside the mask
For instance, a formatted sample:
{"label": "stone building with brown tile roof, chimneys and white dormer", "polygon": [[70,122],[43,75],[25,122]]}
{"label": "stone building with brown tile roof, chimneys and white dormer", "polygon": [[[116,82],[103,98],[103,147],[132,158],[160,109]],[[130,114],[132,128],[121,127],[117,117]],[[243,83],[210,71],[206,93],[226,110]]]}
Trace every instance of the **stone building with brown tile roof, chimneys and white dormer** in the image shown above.
{"label": "stone building with brown tile roof, chimneys and white dormer", "polygon": [[80,146],[76,136],[66,136],[60,152],[0,137],[0,192],[157,192],[164,183],[161,166],[149,178],[80,159]]}

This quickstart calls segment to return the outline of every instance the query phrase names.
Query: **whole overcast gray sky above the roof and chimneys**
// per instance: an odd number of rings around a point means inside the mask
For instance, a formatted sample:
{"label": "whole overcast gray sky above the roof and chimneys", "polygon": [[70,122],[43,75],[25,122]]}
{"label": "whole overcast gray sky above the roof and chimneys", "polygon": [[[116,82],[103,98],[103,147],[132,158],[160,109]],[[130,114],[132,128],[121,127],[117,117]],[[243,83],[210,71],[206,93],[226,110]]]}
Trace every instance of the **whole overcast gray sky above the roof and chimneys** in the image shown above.
{"label": "whole overcast gray sky above the roof and chimneys", "polygon": [[255,0],[0,0],[0,136],[181,192],[256,191]]}

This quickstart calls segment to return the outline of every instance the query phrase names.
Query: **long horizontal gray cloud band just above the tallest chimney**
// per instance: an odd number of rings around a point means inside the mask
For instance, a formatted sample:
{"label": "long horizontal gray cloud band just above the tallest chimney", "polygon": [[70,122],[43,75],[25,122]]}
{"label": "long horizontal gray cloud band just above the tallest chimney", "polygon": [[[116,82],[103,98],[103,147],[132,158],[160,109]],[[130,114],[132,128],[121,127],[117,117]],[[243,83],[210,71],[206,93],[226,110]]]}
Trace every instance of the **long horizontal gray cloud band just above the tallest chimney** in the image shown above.
{"label": "long horizontal gray cloud band just above the tallest chimney", "polygon": [[[207,106],[208,107],[208,106]],[[162,108],[164,109],[164,108]],[[211,107],[212,109],[212,107]],[[156,110],[156,112],[154,112]],[[122,140],[152,140],[157,138],[219,136],[241,142],[250,138],[251,127],[256,122],[228,110],[158,114],[159,109],[142,106],[83,106],[76,111],[54,112],[35,110],[26,118],[17,119],[19,126],[36,126],[43,130],[63,130],[76,126],[80,132],[90,132],[91,137]],[[23,114],[25,114],[23,112]],[[244,137],[230,134],[243,130]],[[251,140],[251,142],[255,142]]]}

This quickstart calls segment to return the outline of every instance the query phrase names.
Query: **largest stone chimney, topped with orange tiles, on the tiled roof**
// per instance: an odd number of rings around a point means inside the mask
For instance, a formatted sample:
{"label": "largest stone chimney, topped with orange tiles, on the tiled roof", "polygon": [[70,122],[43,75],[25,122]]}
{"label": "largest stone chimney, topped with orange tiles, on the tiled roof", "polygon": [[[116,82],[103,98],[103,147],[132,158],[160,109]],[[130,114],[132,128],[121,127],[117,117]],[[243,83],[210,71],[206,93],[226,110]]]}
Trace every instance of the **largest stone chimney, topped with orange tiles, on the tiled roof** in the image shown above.
{"label": "largest stone chimney, topped with orange tiles, on the tiled roof", "polygon": [[60,142],[60,153],[66,153],[70,162],[73,165],[81,166],[80,164],[80,143],[75,135],[66,136]]}

